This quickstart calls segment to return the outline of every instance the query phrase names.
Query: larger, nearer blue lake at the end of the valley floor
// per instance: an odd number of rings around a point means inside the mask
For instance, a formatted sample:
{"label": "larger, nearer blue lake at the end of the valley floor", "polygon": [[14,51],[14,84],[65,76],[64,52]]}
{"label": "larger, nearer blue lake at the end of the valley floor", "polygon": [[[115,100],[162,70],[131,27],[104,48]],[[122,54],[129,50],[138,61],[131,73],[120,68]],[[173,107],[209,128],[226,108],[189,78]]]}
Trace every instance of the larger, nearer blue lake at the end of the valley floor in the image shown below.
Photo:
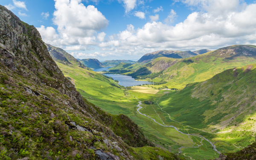
{"label": "larger, nearer blue lake at the end of the valley floor", "polygon": [[151,82],[148,81],[137,81],[134,80],[134,78],[132,78],[131,76],[125,76],[125,75],[121,75],[121,74],[104,74],[108,77],[112,77],[114,80],[118,80],[119,81],[119,85],[121,86],[125,86],[125,87],[130,87],[130,86],[137,86],[137,85],[143,85],[143,84],[153,84]]}

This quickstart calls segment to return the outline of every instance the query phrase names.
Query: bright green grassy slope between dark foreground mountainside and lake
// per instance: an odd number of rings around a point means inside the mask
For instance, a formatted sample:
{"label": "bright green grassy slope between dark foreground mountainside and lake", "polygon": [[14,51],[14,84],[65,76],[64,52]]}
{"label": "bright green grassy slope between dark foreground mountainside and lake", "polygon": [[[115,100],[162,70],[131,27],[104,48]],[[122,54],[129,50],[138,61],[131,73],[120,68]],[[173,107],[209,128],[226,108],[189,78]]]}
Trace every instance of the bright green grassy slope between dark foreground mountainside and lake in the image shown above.
{"label": "bright green grassy slope between dark foreground mountainside and lake", "polygon": [[64,76],[72,78],[76,89],[85,98],[113,101],[123,96],[121,89],[111,86],[110,83],[115,83],[113,80],[105,78],[95,71],[56,63]]}

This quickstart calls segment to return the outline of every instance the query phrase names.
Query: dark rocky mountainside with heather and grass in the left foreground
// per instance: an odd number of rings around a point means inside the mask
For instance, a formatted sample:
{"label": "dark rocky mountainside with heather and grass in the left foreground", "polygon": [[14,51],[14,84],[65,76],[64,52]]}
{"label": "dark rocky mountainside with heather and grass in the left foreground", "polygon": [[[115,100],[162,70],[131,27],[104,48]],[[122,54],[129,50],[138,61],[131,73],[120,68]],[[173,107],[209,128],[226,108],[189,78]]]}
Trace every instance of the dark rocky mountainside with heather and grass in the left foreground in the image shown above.
{"label": "dark rocky mountainside with heather and grass in the left foreground", "polygon": [[[4,6],[0,24],[0,159],[133,160],[143,156],[133,147],[142,146],[147,146],[148,160],[178,159],[150,147],[127,116],[109,114],[82,97],[34,26]],[[59,64],[69,66],[62,58],[66,64]]]}

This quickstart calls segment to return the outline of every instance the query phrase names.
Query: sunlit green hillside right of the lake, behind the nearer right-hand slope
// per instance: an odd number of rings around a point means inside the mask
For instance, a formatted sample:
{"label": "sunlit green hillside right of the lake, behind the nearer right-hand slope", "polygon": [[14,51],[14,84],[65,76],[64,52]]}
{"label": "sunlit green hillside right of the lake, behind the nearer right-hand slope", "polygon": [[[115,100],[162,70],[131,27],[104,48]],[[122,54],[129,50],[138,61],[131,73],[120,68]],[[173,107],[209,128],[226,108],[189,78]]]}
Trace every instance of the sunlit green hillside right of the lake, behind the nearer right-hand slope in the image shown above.
{"label": "sunlit green hillside right of the lake, behind the nearer right-hand slope", "polygon": [[170,59],[173,62],[167,65],[169,67],[167,69],[163,67],[161,68],[164,69],[163,72],[157,73],[161,69],[154,69],[156,68],[154,64],[164,59],[168,60],[164,57],[144,65],[136,66],[137,63],[135,63],[129,69],[124,69],[123,73],[136,79],[166,81],[165,86],[169,88],[183,89],[188,83],[207,80],[227,69],[256,63],[256,46],[234,45],[190,58]]}

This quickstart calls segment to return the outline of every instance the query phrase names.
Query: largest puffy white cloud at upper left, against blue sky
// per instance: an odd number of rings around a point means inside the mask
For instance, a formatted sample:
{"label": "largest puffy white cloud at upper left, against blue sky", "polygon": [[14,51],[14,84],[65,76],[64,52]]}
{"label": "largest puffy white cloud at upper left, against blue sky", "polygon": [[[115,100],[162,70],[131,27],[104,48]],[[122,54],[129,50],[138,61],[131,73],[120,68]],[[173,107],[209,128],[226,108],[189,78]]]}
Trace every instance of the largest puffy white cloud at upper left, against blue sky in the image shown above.
{"label": "largest puffy white cloud at upper left, against blue sky", "polygon": [[108,26],[108,20],[94,6],[84,6],[81,0],[55,0],[53,23],[58,32],[72,37],[92,36]]}

